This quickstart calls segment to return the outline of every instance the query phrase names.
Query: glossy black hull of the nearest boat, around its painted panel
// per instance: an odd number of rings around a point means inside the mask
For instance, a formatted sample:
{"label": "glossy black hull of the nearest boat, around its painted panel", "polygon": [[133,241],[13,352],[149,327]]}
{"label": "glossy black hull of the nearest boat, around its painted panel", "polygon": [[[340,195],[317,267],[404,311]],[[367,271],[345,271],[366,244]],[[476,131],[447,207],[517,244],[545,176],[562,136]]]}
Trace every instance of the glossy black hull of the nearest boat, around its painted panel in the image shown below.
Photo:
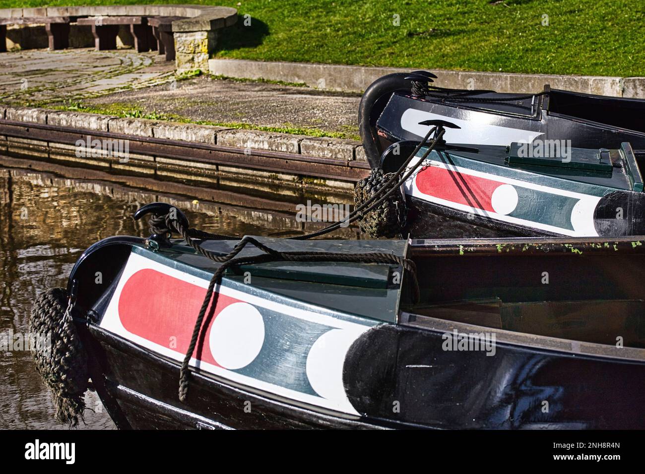
{"label": "glossy black hull of the nearest boat, around its painted panel", "polygon": [[[426,323],[427,324],[427,323]],[[321,413],[194,374],[101,328],[84,331],[94,385],[119,428],[644,428],[645,365],[497,343],[495,357],[445,351],[443,334],[383,325],[355,342],[344,382],[361,417]],[[471,328],[481,330],[481,328]],[[546,403],[545,403],[546,402]]]}

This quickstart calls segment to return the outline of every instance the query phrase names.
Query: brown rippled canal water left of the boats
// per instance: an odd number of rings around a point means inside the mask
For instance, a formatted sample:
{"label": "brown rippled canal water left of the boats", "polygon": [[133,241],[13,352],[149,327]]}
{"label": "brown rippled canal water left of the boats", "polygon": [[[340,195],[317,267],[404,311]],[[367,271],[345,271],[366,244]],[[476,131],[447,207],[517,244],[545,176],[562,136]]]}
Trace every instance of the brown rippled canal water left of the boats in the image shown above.
{"label": "brown rippled canal water left of the boats", "polygon": [[[110,235],[149,235],[147,222],[132,218],[143,204],[170,202],[186,211],[192,226],[208,232],[286,237],[321,226],[295,219],[298,202],[351,199],[219,182],[163,183],[51,166],[43,170],[44,164],[34,170],[27,163],[15,166],[14,160],[8,166],[0,157],[0,333],[14,335],[28,332],[32,302],[46,288],[66,286],[74,262],[92,243]],[[339,237],[357,237],[351,227],[343,232]],[[94,392],[86,393],[86,405],[79,429],[114,429]],[[0,428],[64,428],[54,420],[51,395],[28,351],[0,350]]]}

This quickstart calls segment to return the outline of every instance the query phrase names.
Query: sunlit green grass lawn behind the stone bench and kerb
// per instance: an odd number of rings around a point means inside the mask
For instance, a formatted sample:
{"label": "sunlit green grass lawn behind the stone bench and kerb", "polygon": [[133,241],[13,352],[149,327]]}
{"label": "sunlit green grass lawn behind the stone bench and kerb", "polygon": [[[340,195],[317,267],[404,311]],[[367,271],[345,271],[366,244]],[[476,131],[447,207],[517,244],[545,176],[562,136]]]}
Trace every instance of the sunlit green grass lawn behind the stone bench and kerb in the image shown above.
{"label": "sunlit green grass lawn behind the stone bench and kerb", "polygon": [[[144,2],[0,0],[0,8]],[[428,70],[645,75],[642,0],[185,3],[235,6],[241,15],[250,15],[250,26],[240,17],[238,25],[223,34],[219,57]],[[543,25],[547,21],[548,26]]]}

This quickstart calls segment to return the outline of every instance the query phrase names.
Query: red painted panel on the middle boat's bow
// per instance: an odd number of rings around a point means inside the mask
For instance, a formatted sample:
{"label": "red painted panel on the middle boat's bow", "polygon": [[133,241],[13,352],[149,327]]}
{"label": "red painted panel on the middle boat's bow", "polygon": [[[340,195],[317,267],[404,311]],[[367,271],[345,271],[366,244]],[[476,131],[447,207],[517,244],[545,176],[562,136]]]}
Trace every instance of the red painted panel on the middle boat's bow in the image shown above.
{"label": "red painted panel on the middle boat's bow", "polygon": [[489,212],[495,212],[491,204],[493,191],[504,184],[439,166],[428,166],[415,179],[417,188],[424,194]]}

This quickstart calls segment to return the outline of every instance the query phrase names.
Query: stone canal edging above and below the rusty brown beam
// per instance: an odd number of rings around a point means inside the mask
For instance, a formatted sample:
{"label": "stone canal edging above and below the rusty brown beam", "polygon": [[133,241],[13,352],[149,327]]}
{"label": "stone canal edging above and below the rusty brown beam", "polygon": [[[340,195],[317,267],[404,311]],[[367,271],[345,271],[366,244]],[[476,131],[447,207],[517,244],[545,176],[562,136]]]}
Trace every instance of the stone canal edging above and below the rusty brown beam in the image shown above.
{"label": "stone canal edging above and below the rusty brown beam", "polygon": [[[168,139],[176,141],[185,141],[187,143],[195,144],[217,144],[221,146],[230,146],[244,150],[243,153],[252,153],[252,150],[268,150],[272,152],[283,152],[294,155],[303,155],[314,158],[336,159],[343,162],[349,161],[362,161],[366,163],[366,157],[362,150],[361,143],[353,140],[335,139],[335,138],[320,138],[310,137],[306,135],[292,135],[290,133],[278,132],[265,132],[262,130],[244,130],[232,129],[219,126],[190,124],[190,123],[174,123],[166,121],[155,121],[148,119],[138,119],[129,117],[114,117],[110,115],[99,114],[86,114],[83,112],[60,111],[60,110],[46,110],[41,108],[29,107],[12,107],[0,106],[0,118],[4,117],[8,121],[22,122],[26,124],[38,123],[47,124],[52,126],[60,126],[63,128],[70,128],[70,130],[83,130],[88,134],[88,138],[93,139],[92,131],[97,132],[110,132],[120,133],[133,137],[153,137],[159,139]],[[24,157],[52,157],[60,161],[72,163],[74,161],[79,164],[92,164],[92,161],[83,161],[83,159],[75,159],[74,146],[69,144],[61,144],[55,142],[33,142],[23,138],[12,138],[12,145],[9,147],[15,152],[20,152]],[[33,143],[32,143],[33,142]],[[5,149],[5,146],[0,145],[0,149]],[[11,151],[10,150],[10,151]],[[71,150],[71,151],[70,151]],[[133,155],[134,156],[134,155]],[[134,166],[135,172],[150,173],[154,172],[154,167],[170,166],[183,170],[184,175],[198,175],[203,174],[204,170],[199,168],[200,163],[191,160],[183,159],[160,159],[159,157],[144,157],[143,155],[136,155],[132,163],[113,163],[115,168],[126,169]],[[101,162],[101,166],[107,166],[108,162]],[[152,166],[152,168],[151,168]],[[239,175],[248,175],[261,177],[262,172],[253,170],[244,170],[243,168],[235,168],[232,166],[220,166],[213,164],[210,166],[212,174],[214,170],[226,171],[228,173],[235,173]],[[202,166],[202,168],[204,167]],[[137,168],[137,169],[135,169]],[[209,174],[207,173],[207,174]],[[275,177],[279,173],[264,173],[266,176]],[[284,174],[287,181],[293,182],[295,175]],[[314,176],[315,178],[315,176]],[[328,183],[327,186],[346,189],[351,187],[350,183],[344,181],[334,181],[330,179],[319,180],[321,183]]]}

